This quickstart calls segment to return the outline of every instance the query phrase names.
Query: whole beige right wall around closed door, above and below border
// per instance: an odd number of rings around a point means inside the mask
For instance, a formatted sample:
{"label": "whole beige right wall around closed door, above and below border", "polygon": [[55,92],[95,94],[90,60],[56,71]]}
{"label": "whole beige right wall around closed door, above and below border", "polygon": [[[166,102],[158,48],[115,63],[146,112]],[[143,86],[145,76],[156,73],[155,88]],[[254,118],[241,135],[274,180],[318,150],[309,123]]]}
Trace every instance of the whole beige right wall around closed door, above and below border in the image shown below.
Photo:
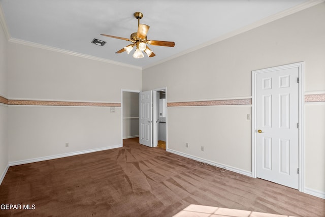
{"label": "whole beige right wall around closed door, above and below border", "polygon": [[[324,23],[322,3],[145,69],[143,90],[167,86],[168,102],[250,98],[251,71],[304,61],[305,93],[324,94]],[[325,138],[311,131],[325,132],[323,122],[314,122],[324,117],[323,108],[324,102],[305,105],[305,188],[325,197]],[[248,113],[251,106],[169,107],[168,148],[249,173]]]}

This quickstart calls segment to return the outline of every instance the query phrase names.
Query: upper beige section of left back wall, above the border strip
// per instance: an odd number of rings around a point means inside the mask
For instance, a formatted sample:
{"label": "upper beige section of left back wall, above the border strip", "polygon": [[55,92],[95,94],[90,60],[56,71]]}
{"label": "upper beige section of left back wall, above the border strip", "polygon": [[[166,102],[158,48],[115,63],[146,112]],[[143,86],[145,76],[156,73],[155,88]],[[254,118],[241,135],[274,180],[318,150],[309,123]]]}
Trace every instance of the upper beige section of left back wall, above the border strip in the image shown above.
{"label": "upper beige section of left back wall, above the border strip", "polygon": [[121,88],[141,90],[140,69],[9,43],[12,99],[121,102]]}

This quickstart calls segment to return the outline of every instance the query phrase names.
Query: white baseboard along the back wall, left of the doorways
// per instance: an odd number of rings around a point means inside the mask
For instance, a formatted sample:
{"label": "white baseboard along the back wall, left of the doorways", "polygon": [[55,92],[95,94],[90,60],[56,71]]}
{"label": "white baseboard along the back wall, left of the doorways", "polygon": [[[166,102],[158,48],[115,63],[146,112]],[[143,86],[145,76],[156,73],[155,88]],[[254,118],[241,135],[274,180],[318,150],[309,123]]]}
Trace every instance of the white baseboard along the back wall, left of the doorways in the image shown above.
{"label": "white baseboard along the back wall, left of the doorways", "polygon": [[108,146],[108,147],[88,149],[88,150],[84,150],[84,151],[75,151],[75,152],[70,152],[70,153],[55,154],[52,156],[46,156],[46,157],[41,157],[41,158],[33,158],[33,159],[27,159],[27,160],[22,160],[22,161],[13,161],[13,162],[9,162],[9,166],[16,166],[16,165],[34,163],[34,162],[39,162],[39,161],[46,161],[46,160],[52,160],[52,159],[57,159],[57,158],[70,157],[70,156],[75,156],[78,154],[91,153],[91,152],[95,152],[95,151],[103,151],[103,150],[120,148],[120,147],[123,147],[123,145],[112,145],[112,146]]}

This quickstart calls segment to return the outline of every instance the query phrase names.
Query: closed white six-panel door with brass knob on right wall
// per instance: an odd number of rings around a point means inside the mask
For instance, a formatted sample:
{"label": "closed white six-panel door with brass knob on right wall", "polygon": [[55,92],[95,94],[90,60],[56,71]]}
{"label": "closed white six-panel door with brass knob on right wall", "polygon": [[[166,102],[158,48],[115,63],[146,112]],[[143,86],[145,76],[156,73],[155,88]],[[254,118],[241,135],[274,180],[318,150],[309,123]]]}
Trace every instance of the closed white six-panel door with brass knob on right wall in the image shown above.
{"label": "closed white six-panel door with brass knob on right wall", "polygon": [[299,68],[254,71],[256,177],[299,188]]}

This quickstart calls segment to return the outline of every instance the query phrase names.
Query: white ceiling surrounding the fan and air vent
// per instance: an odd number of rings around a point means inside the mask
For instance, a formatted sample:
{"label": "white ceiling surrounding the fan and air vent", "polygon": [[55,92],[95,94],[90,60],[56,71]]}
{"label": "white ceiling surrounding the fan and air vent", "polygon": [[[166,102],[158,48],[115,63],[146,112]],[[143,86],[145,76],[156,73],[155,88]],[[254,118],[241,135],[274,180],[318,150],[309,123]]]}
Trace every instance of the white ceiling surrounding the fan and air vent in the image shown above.
{"label": "white ceiling surrounding the fan and air vent", "polygon": [[[292,13],[300,0],[0,0],[11,40],[22,40],[71,52],[147,68],[196,50],[240,29]],[[156,56],[134,59],[115,52],[137,32],[134,12],[150,26],[148,40],[174,41],[175,47],[150,46]],[[269,19],[268,19],[269,18]],[[262,21],[261,21],[262,20]],[[264,21],[263,21],[264,20]],[[105,46],[91,44],[93,38]]]}

